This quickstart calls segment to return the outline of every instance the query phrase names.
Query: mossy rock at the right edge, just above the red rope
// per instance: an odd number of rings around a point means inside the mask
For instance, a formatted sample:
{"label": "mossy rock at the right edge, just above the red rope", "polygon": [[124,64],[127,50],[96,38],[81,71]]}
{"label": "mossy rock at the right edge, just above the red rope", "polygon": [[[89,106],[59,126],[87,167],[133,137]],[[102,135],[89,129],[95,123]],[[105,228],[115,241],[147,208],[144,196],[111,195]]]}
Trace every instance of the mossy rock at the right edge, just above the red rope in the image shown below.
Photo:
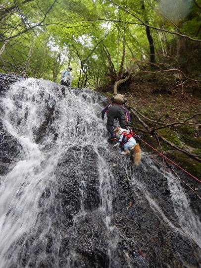
{"label": "mossy rock at the right edge, just above the red rope", "polygon": [[187,155],[183,154],[177,150],[169,150],[166,152],[168,158],[174,161],[176,164],[180,165],[186,171],[188,171],[193,176],[199,178],[201,174],[201,163],[189,158]]}

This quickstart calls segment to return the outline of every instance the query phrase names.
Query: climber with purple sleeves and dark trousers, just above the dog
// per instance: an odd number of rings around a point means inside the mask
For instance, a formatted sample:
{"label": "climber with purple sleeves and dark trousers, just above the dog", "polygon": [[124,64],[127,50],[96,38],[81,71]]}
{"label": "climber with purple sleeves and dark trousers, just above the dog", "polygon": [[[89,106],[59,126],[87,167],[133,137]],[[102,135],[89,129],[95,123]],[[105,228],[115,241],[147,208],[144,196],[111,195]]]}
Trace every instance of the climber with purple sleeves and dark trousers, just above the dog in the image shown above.
{"label": "climber with purple sleeves and dark trousers, just above the dog", "polygon": [[127,124],[130,125],[131,117],[127,109],[124,107],[127,100],[124,100],[122,105],[114,103],[111,99],[111,103],[105,106],[101,111],[101,118],[104,119],[105,112],[107,113],[107,130],[110,133],[108,141],[116,140],[114,133],[114,119],[118,118],[121,128],[128,129]]}

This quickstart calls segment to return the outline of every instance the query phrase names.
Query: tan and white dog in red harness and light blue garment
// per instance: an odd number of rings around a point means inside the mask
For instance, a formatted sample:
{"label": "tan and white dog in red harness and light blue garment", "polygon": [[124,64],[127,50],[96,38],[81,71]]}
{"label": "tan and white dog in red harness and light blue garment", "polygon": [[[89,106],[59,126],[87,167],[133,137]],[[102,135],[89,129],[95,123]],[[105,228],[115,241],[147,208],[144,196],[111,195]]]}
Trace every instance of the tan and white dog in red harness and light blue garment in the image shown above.
{"label": "tan and white dog in red harness and light blue garment", "polygon": [[141,161],[142,154],[139,143],[136,143],[136,140],[134,139],[133,131],[129,132],[127,129],[117,127],[114,130],[114,133],[116,135],[117,141],[119,141],[114,146],[121,144],[124,149],[124,152],[121,153],[122,155],[130,154],[132,152],[133,162],[134,164],[138,165]]}

